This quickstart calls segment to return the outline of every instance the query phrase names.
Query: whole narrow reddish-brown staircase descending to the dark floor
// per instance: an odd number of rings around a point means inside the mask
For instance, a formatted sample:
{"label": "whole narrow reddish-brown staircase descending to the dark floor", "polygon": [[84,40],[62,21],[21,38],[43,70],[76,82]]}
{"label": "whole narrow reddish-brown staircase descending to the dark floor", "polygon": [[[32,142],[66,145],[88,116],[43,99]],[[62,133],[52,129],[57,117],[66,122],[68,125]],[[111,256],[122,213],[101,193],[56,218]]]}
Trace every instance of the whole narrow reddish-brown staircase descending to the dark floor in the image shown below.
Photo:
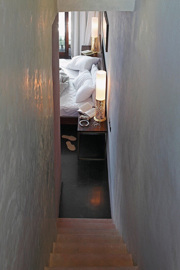
{"label": "whole narrow reddish-brown staircase descending to the dark floor", "polygon": [[45,270],[138,270],[112,219],[58,218]]}

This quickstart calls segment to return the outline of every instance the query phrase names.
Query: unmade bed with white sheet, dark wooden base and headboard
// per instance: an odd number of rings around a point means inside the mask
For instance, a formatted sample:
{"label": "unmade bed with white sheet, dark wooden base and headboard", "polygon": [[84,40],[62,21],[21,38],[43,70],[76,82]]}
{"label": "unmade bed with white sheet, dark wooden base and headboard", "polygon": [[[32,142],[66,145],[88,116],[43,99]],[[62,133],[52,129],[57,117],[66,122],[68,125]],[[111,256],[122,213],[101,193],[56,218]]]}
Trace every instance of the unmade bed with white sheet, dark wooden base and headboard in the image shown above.
{"label": "unmade bed with white sheet, dark wooden base and headboard", "polygon": [[[99,52],[98,57],[100,58],[98,68],[105,70],[104,60],[102,55],[101,37],[99,37]],[[69,86],[60,95],[60,123],[61,124],[78,124],[78,107],[82,104],[89,102],[92,107],[95,107],[95,103],[92,100],[92,96],[83,102],[75,102],[76,88],[72,84],[73,80],[78,76],[79,70],[72,70],[66,68],[67,64],[71,59],[59,59],[59,67],[69,76]]]}

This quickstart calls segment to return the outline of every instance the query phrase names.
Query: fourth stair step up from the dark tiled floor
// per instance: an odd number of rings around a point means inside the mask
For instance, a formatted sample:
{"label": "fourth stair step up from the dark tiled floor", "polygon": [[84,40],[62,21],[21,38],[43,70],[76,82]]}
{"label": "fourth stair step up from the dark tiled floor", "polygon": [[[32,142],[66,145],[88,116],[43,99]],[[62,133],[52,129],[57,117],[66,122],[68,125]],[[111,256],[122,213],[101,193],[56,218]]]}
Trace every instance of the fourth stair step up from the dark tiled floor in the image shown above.
{"label": "fourth stair step up from the dark tiled floor", "polygon": [[122,235],[76,235],[58,234],[56,242],[61,243],[123,243]]}

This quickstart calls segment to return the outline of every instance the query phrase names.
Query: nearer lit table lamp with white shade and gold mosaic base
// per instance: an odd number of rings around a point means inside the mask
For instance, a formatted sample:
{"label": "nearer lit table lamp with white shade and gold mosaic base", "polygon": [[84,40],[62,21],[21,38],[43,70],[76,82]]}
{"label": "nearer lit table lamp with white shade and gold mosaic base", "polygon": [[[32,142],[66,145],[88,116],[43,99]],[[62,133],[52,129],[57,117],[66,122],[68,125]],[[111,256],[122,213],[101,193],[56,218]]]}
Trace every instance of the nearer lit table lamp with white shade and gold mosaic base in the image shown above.
{"label": "nearer lit table lamp with white shade and gold mosaic base", "polygon": [[106,100],[106,72],[98,70],[96,72],[96,112],[95,121],[103,122],[105,117],[105,100]]}

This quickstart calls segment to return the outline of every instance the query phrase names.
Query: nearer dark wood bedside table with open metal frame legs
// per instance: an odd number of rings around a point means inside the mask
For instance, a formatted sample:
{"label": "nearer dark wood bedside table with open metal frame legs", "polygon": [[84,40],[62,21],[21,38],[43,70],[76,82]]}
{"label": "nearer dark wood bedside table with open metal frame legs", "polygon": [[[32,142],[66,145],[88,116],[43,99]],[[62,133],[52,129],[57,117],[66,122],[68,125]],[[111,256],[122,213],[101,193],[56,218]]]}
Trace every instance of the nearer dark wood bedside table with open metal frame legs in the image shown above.
{"label": "nearer dark wood bedside table with open metal frame legs", "polygon": [[[82,115],[82,113],[79,113],[79,117]],[[106,115],[105,115],[106,116]],[[104,122],[100,122],[100,128],[97,129],[92,126],[87,126],[87,127],[82,127],[80,126],[79,122],[82,119],[79,119],[78,117],[78,159],[81,160],[106,160],[106,144],[107,144],[107,135],[108,135],[108,124],[107,120]],[[91,120],[89,120],[89,123],[94,123],[95,120],[92,117]],[[79,148],[80,148],[80,136],[83,134],[88,134],[88,135],[97,135],[97,134],[104,134],[104,157],[102,158],[79,158]]]}

